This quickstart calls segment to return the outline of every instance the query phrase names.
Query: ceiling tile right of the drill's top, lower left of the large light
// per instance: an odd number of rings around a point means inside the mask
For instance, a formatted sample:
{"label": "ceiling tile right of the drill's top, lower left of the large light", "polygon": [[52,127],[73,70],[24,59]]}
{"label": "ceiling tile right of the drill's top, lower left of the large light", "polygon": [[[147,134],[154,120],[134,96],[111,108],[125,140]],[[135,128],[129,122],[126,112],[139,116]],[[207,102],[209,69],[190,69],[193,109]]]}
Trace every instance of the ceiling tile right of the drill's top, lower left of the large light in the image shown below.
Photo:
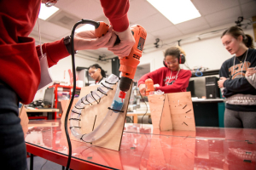
{"label": "ceiling tile right of the drill's top, lower left of the large light", "polygon": [[168,26],[173,26],[172,22],[167,20],[162,14],[154,14],[143,20],[138,20],[135,23],[143,26],[147,32],[157,31]]}

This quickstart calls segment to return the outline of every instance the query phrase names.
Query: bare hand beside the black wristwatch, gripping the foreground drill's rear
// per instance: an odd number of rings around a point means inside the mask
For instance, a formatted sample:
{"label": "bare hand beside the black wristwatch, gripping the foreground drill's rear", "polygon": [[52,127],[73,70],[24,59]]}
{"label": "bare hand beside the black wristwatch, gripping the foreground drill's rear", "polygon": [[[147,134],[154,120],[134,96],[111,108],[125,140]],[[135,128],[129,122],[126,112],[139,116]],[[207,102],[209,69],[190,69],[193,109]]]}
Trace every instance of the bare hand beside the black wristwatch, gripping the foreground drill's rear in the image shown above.
{"label": "bare hand beside the black wristwatch, gripping the foreground drill's rear", "polygon": [[113,47],[116,35],[113,33],[113,27],[110,26],[108,33],[100,38],[95,36],[95,31],[80,31],[73,37],[74,50],[98,49]]}

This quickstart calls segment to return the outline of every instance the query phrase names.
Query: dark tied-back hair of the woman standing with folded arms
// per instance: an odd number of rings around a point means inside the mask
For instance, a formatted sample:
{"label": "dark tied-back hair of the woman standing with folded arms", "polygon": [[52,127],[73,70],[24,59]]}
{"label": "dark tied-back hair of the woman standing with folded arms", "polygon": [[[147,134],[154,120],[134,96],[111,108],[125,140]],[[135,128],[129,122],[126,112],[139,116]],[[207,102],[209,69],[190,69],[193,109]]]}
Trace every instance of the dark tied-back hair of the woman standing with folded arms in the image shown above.
{"label": "dark tied-back hair of the woman standing with folded arms", "polygon": [[247,48],[254,48],[253,44],[253,37],[245,34],[241,27],[239,26],[231,26],[229,29],[225,30],[221,37],[224,37],[224,35],[230,35],[232,37],[235,37],[236,39],[241,36],[242,42],[247,46]]}

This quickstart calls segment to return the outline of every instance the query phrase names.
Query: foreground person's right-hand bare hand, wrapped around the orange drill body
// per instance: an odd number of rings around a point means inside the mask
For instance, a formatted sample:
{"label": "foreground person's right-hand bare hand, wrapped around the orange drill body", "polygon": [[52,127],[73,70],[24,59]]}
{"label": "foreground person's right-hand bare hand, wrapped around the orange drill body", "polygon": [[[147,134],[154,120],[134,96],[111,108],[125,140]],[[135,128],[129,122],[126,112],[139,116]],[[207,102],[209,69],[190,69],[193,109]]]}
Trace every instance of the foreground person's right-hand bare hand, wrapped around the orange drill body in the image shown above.
{"label": "foreground person's right-hand bare hand, wrapped around the orange drill body", "polygon": [[128,27],[125,31],[118,32],[114,31],[115,34],[119,37],[120,43],[108,48],[109,51],[112,51],[113,54],[119,56],[119,59],[128,56],[131,52],[131,48],[135,43],[135,39],[131,34],[131,29]]}

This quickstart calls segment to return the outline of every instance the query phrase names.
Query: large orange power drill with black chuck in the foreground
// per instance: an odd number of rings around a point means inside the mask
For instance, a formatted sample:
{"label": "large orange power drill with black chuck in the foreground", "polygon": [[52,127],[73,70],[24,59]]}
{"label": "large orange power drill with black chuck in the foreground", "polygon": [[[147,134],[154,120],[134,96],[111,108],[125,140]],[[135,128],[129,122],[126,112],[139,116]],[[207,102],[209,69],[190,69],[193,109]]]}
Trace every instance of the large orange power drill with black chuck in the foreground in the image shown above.
{"label": "large orange power drill with black chuck in the foreground", "polygon": [[[102,37],[108,32],[108,25],[104,22],[96,22],[91,20],[90,23],[95,26],[96,37]],[[123,59],[120,59],[120,68],[119,71],[122,72],[120,84],[119,84],[119,98],[125,99],[125,93],[130,89],[132,79],[134,78],[135,72],[137,70],[137,65],[140,63],[140,58],[143,54],[144,43],[147,37],[147,31],[143,26],[131,26],[131,33],[135,39],[135,44],[131,48],[131,52],[128,56],[125,56]],[[117,38],[114,44],[120,42],[119,37]]]}

